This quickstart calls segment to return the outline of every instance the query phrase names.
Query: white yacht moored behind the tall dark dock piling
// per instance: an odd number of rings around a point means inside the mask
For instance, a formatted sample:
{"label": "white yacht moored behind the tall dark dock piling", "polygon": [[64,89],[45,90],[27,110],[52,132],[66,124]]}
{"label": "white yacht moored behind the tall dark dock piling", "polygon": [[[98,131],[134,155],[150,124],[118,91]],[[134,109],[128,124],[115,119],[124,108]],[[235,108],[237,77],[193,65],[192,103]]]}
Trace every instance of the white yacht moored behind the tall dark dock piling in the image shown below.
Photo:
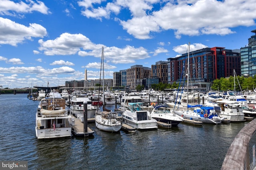
{"label": "white yacht moored behind the tall dark dock piling", "polygon": [[97,106],[92,106],[92,100],[90,100],[85,94],[79,94],[72,96],[70,103],[70,113],[77,117],[77,115],[84,113],[84,102],[87,102],[87,118],[94,118]]}

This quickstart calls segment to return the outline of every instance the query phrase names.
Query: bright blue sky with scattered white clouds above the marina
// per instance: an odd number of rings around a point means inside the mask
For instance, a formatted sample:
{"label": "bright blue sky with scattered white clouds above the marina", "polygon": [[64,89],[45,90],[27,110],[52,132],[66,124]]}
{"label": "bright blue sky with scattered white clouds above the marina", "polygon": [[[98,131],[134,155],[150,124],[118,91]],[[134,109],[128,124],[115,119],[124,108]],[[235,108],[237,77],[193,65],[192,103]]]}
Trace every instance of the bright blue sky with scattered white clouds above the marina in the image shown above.
{"label": "bright blue sky with scattered white clouds above the marina", "polygon": [[60,86],[206,47],[240,49],[255,0],[0,0],[0,88]]}

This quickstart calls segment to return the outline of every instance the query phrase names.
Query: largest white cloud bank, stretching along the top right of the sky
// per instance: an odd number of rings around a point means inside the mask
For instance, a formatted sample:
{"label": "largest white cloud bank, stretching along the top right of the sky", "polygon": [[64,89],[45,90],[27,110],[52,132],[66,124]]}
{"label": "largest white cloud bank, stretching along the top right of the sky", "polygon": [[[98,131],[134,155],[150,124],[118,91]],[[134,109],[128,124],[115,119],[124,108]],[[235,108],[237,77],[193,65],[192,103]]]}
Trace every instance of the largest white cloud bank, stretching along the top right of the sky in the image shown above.
{"label": "largest white cloud bank, stretching along the top right of the sky", "polygon": [[[227,35],[235,33],[233,27],[255,25],[254,0],[82,0],[82,14],[87,18],[110,18],[116,14],[124,30],[137,39],[151,39],[154,33],[173,30],[177,39],[182,35]],[[101,4],[104,4],[101,6]],[[153,8],[159,6],[159,8]],[[127,19],[119,19],[121,10],[128,10]],[[129,13],[128,13],[129,14]],[[218,18],[218,20],[216,20]]]}

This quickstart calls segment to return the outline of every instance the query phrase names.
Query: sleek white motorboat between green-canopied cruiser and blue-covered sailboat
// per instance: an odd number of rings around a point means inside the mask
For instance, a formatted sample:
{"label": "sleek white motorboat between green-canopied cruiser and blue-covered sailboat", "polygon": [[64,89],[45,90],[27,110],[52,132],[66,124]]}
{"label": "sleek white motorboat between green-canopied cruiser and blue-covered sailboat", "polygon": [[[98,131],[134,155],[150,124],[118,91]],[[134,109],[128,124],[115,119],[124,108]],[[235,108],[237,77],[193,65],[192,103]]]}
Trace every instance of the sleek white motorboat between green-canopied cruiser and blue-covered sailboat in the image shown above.
{"label": "sleek white motorboat between green-canopied cruiser and blue-covered sailboat", "polygon": [[179,123],[184,121],[183,117],[175,114],[173,109],[168,109],[164,105],[155,106],[150,115],[153,119],[172,126],[177,126]]}

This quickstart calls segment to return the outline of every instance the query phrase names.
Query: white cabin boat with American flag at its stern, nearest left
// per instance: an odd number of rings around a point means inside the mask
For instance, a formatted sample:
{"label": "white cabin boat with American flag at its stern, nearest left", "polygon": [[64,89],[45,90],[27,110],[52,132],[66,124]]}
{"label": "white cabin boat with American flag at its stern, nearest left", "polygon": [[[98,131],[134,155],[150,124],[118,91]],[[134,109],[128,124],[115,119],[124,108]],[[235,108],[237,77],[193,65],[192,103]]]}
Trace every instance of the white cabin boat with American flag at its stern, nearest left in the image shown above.
{"label": "white cabin boat with American flag at its stern, nearest left", "polygon": [[70,137],[72,117],[65,109],[63,98],[43,98],[36,111],[37,139]]}

